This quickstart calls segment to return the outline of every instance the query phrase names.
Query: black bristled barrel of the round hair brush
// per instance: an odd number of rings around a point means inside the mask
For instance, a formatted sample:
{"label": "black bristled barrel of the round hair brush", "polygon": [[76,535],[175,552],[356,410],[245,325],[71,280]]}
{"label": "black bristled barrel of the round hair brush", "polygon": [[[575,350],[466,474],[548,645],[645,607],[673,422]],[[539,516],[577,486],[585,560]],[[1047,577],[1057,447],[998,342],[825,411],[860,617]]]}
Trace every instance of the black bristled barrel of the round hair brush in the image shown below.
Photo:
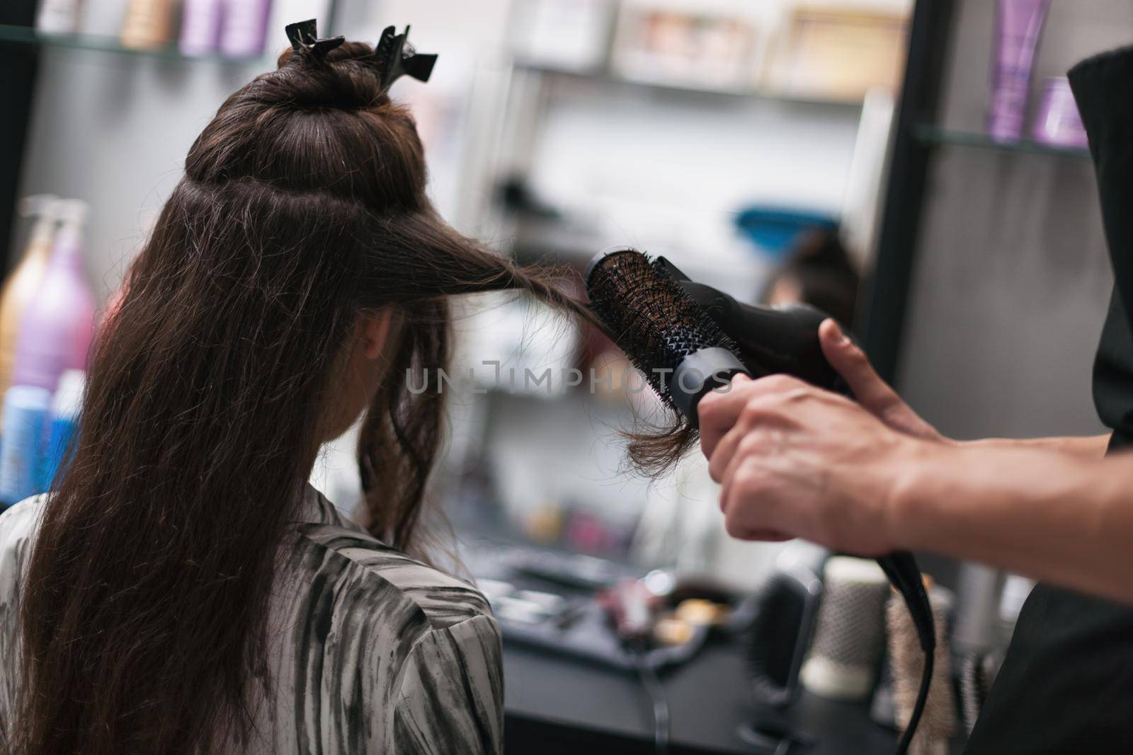
{"label": "black bristled barrel of the round hair brush", "polygon": [[709,348],[739,357],[735,342],[648,255],[629,247],[607,249],[590,263],[585,277],[590,309],[670,407],[676,409],[670,393],[672,370],[685,357]]}

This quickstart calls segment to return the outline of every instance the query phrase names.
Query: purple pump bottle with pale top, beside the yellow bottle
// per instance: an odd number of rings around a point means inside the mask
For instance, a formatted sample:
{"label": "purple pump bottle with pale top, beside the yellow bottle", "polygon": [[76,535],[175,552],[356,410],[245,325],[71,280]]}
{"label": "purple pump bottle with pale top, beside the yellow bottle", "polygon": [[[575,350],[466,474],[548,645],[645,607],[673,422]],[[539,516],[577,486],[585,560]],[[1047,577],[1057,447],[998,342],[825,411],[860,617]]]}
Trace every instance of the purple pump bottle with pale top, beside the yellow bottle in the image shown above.
{"label": "purple pump bottle with pale top, beside the yellow bottle", "polygon": [[60,226],[51,259],[20,323],[12,385],[54,393],[63,370],[86,369],[94,337],[94,294],[83,266],[86,209],[78,199],[58,205]]}

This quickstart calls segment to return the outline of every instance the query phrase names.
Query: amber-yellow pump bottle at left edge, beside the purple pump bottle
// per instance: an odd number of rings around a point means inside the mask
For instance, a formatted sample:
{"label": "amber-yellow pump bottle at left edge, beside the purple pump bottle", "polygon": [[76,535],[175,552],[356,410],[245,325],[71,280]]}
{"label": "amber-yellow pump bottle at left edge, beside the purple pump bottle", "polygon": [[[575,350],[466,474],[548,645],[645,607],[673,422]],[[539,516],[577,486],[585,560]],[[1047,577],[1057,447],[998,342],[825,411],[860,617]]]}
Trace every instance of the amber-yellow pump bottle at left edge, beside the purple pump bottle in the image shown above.
{"label": "amber-yellow pump bottle at left edge, beside the purple pump bottle", "polygon": [[40,289],[43,272],[51,258],[58,201],[58,197],[40,194],[25,197],[19,205],[19,213],[32,218],[32,232],[28,235],[24,258],[0,290],[0,396],[3,396],[11,384],[20,323],[32,303],[32,298]]}

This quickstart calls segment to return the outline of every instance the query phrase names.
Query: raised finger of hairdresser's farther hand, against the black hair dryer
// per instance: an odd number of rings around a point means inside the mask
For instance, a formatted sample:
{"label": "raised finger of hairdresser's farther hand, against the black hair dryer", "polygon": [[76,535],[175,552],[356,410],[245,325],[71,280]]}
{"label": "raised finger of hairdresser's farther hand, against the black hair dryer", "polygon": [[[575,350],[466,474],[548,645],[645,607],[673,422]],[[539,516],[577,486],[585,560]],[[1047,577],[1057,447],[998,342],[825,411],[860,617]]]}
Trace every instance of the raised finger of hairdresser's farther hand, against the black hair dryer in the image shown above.
{"label": "raised finger of hairdresser's farther hand, against the black hair dryer", "polygon": [[846,381],[863,409],[898,432],[926,440],[947,441],[880,378],[869,363],[866,352],[842,333],[836,321],[823,320],[818,328],[818,341],[826,361]]}

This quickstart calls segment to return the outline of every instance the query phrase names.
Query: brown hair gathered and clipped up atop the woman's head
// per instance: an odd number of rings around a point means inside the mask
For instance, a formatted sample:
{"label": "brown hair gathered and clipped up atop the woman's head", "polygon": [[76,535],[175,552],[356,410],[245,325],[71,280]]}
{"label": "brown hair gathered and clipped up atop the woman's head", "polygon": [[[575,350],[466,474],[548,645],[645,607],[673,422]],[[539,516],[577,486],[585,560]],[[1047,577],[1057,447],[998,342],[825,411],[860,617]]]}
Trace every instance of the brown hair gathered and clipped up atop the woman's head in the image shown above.
{"label": "brown hair gathered and clipped up atop the woman's head", "polygon": [[412,115],[382,91],[373,49],[323,59],[288,50],[221,106],[185,161],[191,181],[317,191],[370,211],[421,206],[425,157]]}

